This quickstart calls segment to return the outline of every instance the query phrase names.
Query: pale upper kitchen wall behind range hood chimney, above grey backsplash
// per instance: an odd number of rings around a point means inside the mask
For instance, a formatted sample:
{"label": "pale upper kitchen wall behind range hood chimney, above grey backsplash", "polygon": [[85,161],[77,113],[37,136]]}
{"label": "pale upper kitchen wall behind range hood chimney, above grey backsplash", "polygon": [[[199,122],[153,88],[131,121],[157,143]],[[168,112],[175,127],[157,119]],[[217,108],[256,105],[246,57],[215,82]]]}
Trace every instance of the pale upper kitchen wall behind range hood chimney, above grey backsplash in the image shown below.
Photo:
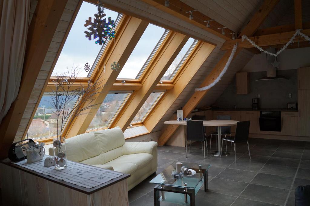
{"label": "pale upper kitchen wall behind range hood chimney, above grey backsplash", "polygon": [[[297,69],[299,67],[310,67],[310,47],[286,49],[279,54],[277,61],[280,62],[278,70]],[[244,72],[267,71],[271,67],[274,57],[267,55],[268,63],[266,63],[266,54],[255,54],[254,57],[242,69]]]}

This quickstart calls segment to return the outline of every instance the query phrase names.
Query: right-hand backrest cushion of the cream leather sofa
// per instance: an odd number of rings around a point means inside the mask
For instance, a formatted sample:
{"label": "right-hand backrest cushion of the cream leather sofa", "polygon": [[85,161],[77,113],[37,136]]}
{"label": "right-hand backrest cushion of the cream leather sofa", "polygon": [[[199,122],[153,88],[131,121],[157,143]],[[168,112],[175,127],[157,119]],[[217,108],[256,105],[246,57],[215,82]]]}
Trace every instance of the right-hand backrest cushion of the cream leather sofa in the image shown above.
{"label": "right-hand backrest cushion of the cream leather sofa", "polygon": [[124,134],[120,127],[94,131],[94,134],[102,153],[122,147],[125,144]]}

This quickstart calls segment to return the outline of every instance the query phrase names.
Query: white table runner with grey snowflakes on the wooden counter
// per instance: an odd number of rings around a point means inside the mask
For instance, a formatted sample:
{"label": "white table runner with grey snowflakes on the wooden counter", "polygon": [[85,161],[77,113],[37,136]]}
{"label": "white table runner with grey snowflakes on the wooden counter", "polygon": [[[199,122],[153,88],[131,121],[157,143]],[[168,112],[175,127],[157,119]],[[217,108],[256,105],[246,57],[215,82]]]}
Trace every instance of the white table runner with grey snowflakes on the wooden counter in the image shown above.
{"label": "white table runner with grey snowflakes on the wooden counter", "polygon": [[92,165],[84,165],[78,162],[67,160],[67,168],[64,170],[55,170],[55,166],[45,167],[44,160],[49,157],[45,155],[43,160],[27,163],[27,159],[14,162],[16,165],[36,171],[56,179],[64,180],[75,185],[91,189],[112,179],[122,176],[120,172],[106,170]]}

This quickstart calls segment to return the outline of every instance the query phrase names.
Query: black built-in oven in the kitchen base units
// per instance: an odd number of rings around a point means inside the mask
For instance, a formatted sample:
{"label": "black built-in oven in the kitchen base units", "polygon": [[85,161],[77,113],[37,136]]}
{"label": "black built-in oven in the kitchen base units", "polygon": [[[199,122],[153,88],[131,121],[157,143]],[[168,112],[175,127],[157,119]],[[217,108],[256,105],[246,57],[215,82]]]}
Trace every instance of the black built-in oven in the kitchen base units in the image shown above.
{"label": "black built-in oven in the kitchen base units", "polygon": [[261,111],[259,127],[261,131],[281,131],[281,112]]}

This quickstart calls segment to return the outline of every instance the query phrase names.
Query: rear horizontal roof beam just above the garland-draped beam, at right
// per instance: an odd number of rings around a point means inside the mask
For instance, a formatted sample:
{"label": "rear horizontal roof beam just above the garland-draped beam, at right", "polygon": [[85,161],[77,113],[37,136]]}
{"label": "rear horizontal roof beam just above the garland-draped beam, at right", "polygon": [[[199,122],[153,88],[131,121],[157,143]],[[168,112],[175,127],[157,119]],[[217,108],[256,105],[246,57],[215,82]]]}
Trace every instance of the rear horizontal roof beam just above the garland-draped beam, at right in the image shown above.
{"label": "rear horizontal roof beam just above the garland-draped beam, at right", "polygon": [[[310,28],[310,21],[304,22],[303,29],[309,29],[309,28]],[[292,32],[292,31],[295,31],[295,24],[286,24],[276,27],[258,29],[253,36],[262,36],[262,35],[276,34],[282,32]]]}

